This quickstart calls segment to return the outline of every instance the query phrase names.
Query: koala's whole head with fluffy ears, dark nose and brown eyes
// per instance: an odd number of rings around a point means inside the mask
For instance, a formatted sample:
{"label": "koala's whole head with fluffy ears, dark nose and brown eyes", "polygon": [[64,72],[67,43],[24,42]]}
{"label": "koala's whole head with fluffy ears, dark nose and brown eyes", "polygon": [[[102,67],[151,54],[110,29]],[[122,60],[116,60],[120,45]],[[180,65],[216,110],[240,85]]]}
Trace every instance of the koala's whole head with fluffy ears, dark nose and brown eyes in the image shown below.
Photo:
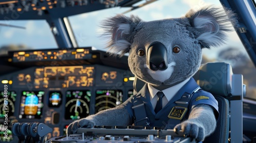
{"label": "koala's whole head with fluffy ears, dark nose and brown eyes", "polygon": [[231,11],[214,7],[189,11],[185,17],[142,21],[117,15],[104,21],[109,52],[129,52],[132,73],[158,89],[176,85],[198,70],[202,48],[218,46],[236,23]]}

